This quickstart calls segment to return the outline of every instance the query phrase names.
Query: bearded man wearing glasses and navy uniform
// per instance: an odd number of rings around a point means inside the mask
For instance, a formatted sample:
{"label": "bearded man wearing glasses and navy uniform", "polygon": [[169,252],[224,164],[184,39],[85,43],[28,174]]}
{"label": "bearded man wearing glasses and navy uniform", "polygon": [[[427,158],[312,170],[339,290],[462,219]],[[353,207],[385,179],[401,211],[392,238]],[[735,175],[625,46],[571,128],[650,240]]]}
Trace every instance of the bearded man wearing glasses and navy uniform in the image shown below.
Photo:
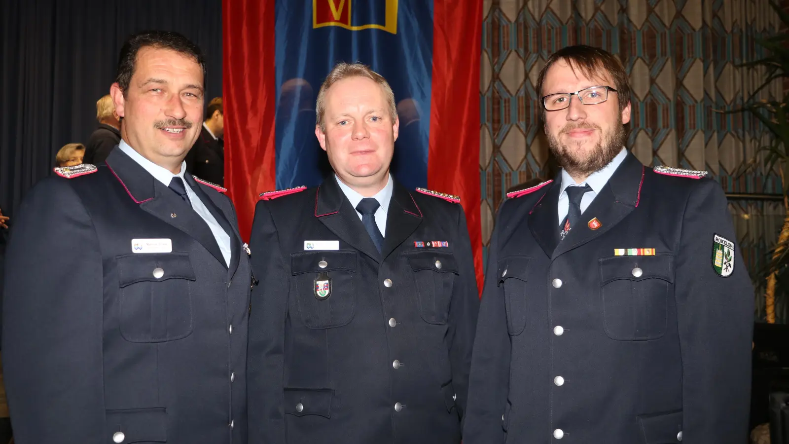
{"label": "bearded man wearing glasses and navy uniform", "polygon": [[556,52],[537,94],[562,170],[499,209],[463,442],[745,442],[753,288],[723,190],[624,148],[608,52]]}

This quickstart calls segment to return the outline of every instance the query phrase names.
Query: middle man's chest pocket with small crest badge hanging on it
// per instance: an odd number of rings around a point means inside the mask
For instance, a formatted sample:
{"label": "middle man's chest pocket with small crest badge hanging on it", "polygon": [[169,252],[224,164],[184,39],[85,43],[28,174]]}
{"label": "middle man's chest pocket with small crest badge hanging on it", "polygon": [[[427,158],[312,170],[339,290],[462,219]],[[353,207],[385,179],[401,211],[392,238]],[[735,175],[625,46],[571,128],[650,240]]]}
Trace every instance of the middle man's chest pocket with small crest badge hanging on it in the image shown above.
{"label": "middle man's chest pocket with small crest badge hanging on it", "polygon": [[298,311],[307,328],[329,329],[351,322],[356,305],[357,261],[356,251],[290,254]]}

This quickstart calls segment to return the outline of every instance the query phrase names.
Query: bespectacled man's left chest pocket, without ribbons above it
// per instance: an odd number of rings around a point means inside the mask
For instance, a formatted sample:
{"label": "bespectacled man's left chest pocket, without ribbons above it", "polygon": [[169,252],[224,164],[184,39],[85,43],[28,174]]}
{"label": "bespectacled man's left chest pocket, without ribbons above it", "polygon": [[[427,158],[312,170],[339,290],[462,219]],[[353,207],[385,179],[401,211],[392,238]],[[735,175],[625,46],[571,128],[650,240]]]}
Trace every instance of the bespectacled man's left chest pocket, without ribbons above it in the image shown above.
{"label": "bespectacled man's left chest pocket, without ribbons above it", "polygon": [[499,287],[504,290],[507,331],[516,336],[526,326],[526,281],[530,256],[510,256],[499,260]]}

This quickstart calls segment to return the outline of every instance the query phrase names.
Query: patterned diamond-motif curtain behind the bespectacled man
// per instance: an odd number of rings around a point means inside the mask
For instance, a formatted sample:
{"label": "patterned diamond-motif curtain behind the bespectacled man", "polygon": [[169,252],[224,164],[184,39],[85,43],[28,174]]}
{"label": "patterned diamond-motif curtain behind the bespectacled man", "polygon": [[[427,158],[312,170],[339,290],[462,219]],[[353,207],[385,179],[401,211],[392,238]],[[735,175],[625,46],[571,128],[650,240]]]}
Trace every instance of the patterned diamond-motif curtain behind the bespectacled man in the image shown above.
{"label": "patterned diamond-motif curtain behind the bespectacled man", "polygon": [[[766,141],[761,124],[726,113],[761,84],[760,72],[739,64],[764,55],[755,39],[776,32],[778,18],[764,0],[492,0],[484,3],[483,17],[485,246],[507,188],[552,170],[537,73],[554,51],[577,43],[603,47],[623,61],[633,88],[627,143],[641,162],[710,171],[731,193],[780,192],[774,172],[741,171]],[[776,82],[760,97],[781,88]],[[737,205],[745,214],[765,204]]]}

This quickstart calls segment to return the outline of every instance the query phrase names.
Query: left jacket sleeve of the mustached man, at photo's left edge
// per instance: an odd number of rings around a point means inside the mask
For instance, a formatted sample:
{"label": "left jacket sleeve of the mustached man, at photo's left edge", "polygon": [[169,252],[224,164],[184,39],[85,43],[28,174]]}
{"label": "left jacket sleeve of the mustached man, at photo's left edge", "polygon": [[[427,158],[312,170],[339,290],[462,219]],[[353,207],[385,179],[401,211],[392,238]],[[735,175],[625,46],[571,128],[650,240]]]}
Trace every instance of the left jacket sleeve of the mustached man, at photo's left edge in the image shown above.
{"label": "left jacket sleeve of the mustached man, at photo's left edge", "polygon": [[3,377],[19,444],[104,436],[103,265],[92,220],[65,179],[41,182],[6,251]]}

